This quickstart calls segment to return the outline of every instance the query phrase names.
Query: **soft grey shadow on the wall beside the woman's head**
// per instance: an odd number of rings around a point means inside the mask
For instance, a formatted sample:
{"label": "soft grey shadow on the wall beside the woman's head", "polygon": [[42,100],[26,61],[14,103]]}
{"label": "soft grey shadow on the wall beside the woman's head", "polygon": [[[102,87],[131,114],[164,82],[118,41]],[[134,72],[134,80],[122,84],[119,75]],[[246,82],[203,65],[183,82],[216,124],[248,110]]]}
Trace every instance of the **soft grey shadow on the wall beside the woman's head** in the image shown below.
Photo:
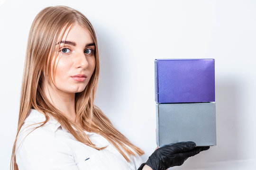
{"label": "soft grey shadow on the wall beside the woman's head", "polygon": [[97,34],[100,58],[100,77],[96,95],[96,105],[110,116],[115,113],[115,108],[122,102],[121,96],[124,92],[122,88],[122,74],[124,61],[122,47],[118,43],[119,37],[104,27],[102,23],[94,26]]}

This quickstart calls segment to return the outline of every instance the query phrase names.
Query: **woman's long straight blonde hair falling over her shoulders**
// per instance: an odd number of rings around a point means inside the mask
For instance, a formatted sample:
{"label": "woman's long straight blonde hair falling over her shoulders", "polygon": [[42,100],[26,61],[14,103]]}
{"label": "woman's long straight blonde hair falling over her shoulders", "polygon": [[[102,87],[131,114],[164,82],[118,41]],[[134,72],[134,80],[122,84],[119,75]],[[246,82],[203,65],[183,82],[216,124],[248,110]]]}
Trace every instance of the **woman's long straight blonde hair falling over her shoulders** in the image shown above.
{"label": "woman's long straight blonde hair falling over her shoulders", "polygon": [[[49,80],[52,86],[54,85],[52,76],[50,76],[52,74],[50,68],[51,60],[56,50],[55,44],[59,41],[60,37],[64,37],[64,33],[68,27],[75,23],[88,29],[95,43],[95,70],[86,88],[81,93],[75,94],[76,119],[79,120],[82,128],[62,116],[63,114],[46,98],[42,89],[43,76]],[[55,75],[54,70],[53,75]],[[18,133],[30,109],[36,109],[46,116],[46,120],[42,122],[42,125],[39,127],[43,126],[49,120],[49,115],[51,115],[83,144],[98,150],[105,148],[99,148],[91,143],[89,137],[83,131],[86,130],[105,137],[127,161],[129,161],[129,159],[125,153],[128,155],[136,155],[134,153],[135,151],[138,155],[144,154],[140,148],[133,145],[124,135],[113,127],[104,113],[94,105],[98,79],[99,53],[96,35],[90,21],[81,12],[66,6],[47,7],[41,10],[32,23],[27,40],[27,52],[20,96],[18,130],[12,150],[11,170],[18,170],[15,156],[16,142]],[[72,126],[76,128],[77,131],[74,130]]]}

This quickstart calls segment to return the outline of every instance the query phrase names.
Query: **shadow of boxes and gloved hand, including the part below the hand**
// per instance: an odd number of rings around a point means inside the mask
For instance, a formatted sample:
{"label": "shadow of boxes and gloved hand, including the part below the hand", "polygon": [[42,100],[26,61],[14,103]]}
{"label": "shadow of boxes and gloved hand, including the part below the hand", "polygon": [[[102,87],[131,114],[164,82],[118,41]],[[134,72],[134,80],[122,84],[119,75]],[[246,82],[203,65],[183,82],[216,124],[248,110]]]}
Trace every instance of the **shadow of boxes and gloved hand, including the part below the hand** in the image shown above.
{"label": "shadow of boxes and gloved hand, including the part below the hand", "polygon": [[211,169],[218,166],[215,162],[234,161],[241,158],[238,135],[238,80],[221,78],[216,81],[216,128],[217,145],[208,151],[189,158],[177,170]]}

